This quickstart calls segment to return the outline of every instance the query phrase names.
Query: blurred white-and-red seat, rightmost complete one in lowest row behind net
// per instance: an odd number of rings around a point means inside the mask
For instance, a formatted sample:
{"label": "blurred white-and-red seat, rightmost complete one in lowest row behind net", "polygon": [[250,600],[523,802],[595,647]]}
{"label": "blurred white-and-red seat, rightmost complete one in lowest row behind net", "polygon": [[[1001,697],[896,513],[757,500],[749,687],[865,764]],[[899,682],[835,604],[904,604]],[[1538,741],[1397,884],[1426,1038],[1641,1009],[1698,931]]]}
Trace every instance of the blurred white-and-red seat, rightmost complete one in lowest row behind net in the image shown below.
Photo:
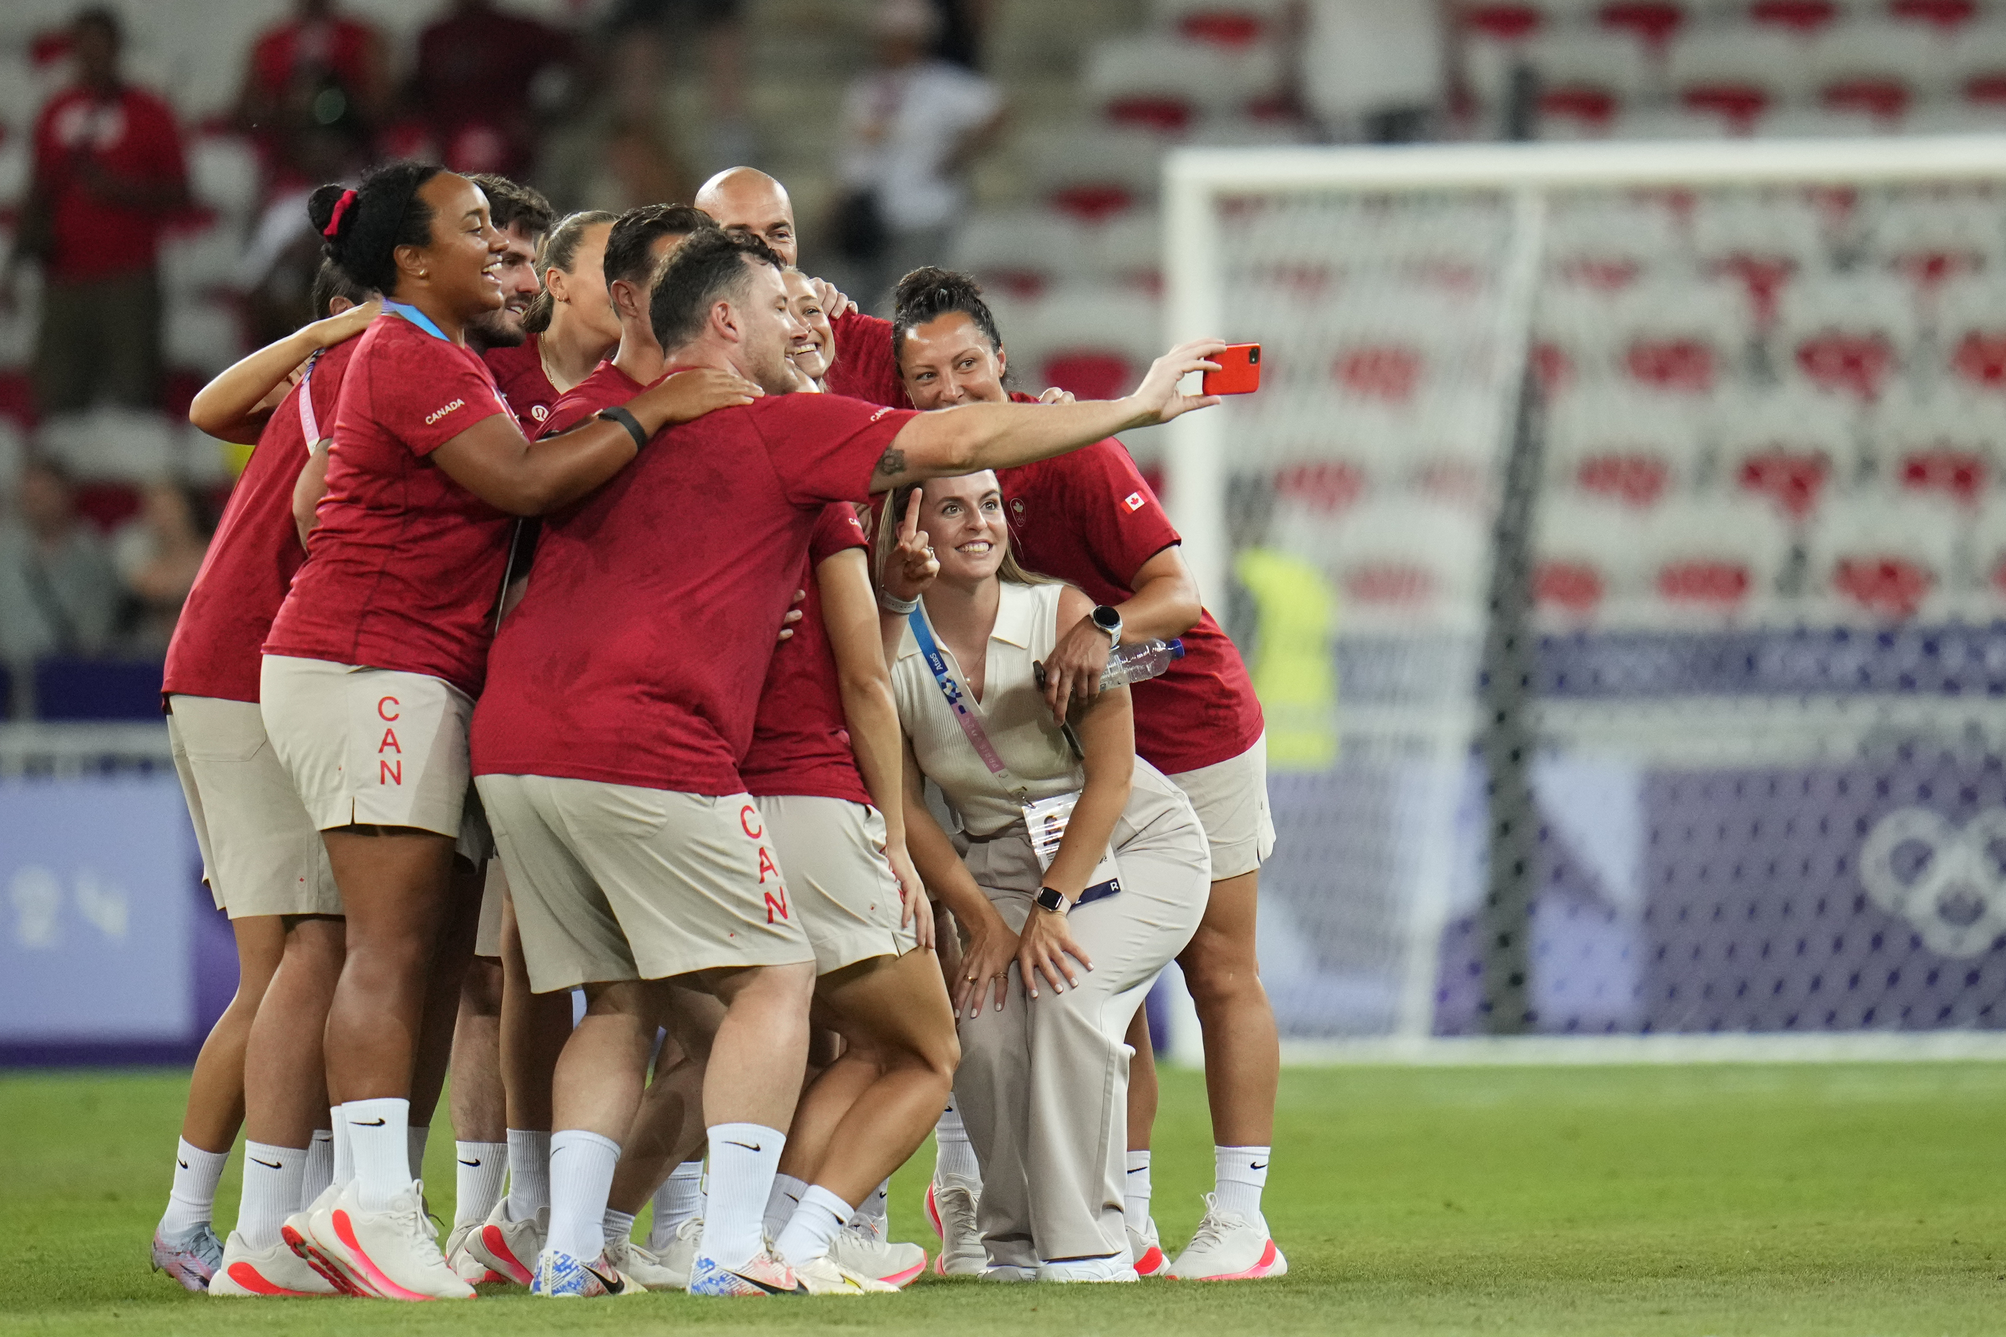
{"label": "blurred white-and-red seat, rightmost complete one in lowest row behind net", "polygon": [[1914,618],[1956,582],[1958,520],[1914,496],[1833,498],[1811,526],[1807,588],[1840,616]]}

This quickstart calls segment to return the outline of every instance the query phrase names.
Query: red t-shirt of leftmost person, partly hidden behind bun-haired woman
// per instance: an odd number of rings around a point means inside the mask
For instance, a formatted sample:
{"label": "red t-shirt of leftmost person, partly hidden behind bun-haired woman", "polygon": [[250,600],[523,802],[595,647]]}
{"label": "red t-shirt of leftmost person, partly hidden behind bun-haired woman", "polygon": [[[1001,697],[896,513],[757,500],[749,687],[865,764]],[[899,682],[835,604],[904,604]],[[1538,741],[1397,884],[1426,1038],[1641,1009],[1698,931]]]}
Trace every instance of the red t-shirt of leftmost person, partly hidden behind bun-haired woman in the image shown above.
{"label": "red t-shirt of leftmost person, partly hidden behind bun-haired woman", "polygon": [[259,646],[285,602],[293,572],[307,560],[293,524],[293,484],[307,466],[301,395],[311,395],[321,436],[335,426],[341,379],[361,339],[345,339],[313,359],[313,371],[273,410],[257,450],[231,488],[209,540],[195,588],[166,642],[162,693],[257,701]]}

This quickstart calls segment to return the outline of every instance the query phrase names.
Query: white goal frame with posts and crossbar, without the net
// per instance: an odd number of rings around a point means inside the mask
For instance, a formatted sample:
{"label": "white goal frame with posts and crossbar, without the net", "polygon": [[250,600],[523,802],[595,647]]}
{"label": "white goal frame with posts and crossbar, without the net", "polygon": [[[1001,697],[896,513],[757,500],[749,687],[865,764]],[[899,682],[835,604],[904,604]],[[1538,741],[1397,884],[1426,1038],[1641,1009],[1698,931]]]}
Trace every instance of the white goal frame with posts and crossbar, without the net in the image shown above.
{"label": "white goal frame with posts and crossbar, without the net", "polygon": [[[1545,203],[1559,189],[1721,185],[2006,185],[2006,135],[1916,139],[1426,145],[1400,149],[1178,149],[1163,167],[1163,333],[1167,343],[1234,337],[1226,329],[1220,277],[1218,201],[1248,193],[1492,191],[1515,207],[1513,247],[1502,271],[1500,347],[1523,355],[1545,253]],[[1523,367],[1500,377],[1498,430],[1511,422]],[[1511,402],[1504,402],[1504,395]],[[1208,602],[1230,580],[1226,526],[1226,422],[1186,414],[1169,424],[1163,454],[1165,508],[1184,534],[1184,554]],[[1466,735],[1464,735],[1466,743]],[[1428,895],[1424,891],[1422,895]],[[1432,907],[1416,907],[1426,919]],[[1418,944],[1418,946],[1416,946]],[[1599,1038],[1434,1038],[1434,944],[1416,933],[1396,1032],[1384,1040],[1286,1044],[1290,1062],[1707,1062],[2006,1058],[2006,1032],[1837,1032]],[[1174,990],[1172,1058],[1200,1062],[1196,1014]]]}

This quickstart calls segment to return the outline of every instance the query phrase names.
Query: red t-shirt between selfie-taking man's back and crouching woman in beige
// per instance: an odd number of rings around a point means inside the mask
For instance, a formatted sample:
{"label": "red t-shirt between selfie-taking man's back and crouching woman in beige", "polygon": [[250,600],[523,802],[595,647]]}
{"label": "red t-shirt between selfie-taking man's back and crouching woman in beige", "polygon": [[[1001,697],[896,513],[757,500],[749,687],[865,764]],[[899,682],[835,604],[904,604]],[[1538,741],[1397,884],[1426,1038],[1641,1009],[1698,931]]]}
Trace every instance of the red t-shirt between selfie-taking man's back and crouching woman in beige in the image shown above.
{"label": "red t-shirt between selfie-taking man's back and crouching woman in beige", "polygon": [[822,562],[869,546],[855,506],[834,502],[822,510],[808,538],[800,620],[794,622],[794,634],[774,646],[766,687],[758,695],[758,715],[752,717],[752,747],[738,763],[746,793],[756,799],[804,793],[871,803],[851,749],[837,652],[822,624],[822,592],[816,582]]}

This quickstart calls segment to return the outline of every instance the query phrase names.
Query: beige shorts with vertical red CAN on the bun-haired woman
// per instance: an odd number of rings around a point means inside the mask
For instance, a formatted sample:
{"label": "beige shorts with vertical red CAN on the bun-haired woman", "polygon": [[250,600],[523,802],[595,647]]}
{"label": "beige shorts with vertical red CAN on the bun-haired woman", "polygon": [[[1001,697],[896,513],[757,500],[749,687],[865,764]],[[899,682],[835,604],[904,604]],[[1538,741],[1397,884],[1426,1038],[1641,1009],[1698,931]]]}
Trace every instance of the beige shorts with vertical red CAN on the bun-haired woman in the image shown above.
{"label": "beige shorts with vertical red CAN on the bun-haired woman", "polygon": [[317,829],[417,827],[459,839],[469,827],[461,853],[485,859],[467,769],[473,699],[463,691],[423,673],[267,654],[259,695],[271,745]]}

